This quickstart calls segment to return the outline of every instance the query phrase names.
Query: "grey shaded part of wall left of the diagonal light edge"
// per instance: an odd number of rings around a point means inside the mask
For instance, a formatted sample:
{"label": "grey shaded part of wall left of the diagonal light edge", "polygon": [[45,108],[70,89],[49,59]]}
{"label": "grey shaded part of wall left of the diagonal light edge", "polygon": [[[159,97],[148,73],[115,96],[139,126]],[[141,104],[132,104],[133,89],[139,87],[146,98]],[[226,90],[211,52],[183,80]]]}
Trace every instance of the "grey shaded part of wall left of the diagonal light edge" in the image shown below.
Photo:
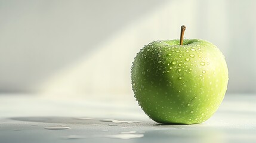
{"label": "grey shaded part of wall left of the diagonal light edge", "polygon": [[166,1],[0,2],[0,91],[30,92]]}

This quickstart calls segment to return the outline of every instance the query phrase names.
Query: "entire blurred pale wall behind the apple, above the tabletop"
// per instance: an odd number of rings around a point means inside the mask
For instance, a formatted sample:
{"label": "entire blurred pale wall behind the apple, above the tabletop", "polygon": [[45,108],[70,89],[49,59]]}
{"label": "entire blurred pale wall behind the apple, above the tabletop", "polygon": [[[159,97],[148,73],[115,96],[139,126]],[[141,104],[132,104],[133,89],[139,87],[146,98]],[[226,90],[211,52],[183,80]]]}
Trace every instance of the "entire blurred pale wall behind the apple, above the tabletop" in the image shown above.
{"label": "entire blurred pale wall behind the apple, above the tabletop", "polygon": [[[0,92],[132,94],[143,45],[207,39],[226,56],[229,93],[254,93],[254,1],[1,1]],[[182,11],[181,11],[181,8]],[[241,18],[242,17],[242,18]],[[246,63],[245,61],[251,61]]]}

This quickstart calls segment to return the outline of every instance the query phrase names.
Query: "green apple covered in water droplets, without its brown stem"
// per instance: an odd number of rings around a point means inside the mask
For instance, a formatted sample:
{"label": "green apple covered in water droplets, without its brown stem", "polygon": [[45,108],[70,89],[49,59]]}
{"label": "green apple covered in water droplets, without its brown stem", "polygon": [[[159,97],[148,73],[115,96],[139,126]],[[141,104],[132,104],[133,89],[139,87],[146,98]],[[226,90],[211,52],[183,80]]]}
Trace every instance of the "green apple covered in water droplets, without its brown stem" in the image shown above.
{"label": "green apple covered in water droplets, without its brown stem", "polygon": [[153,41],[131,67],[134,97],[155,122],[195,124],[217,111],[227,90],[224,55],[201,39]]}

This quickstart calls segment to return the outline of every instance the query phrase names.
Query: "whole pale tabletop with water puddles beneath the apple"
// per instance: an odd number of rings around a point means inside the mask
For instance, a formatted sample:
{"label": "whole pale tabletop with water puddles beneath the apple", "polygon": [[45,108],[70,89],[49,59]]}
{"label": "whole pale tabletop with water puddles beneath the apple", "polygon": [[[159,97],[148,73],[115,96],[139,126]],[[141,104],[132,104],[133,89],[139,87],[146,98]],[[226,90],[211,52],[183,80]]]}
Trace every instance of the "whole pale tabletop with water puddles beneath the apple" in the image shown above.
{"label": "whole pale tabletop with water puddles beneath the apple", "polygon": [[132,95],[60,100],[2,94],[0,142],[255,143],[255,101],[256,95],[226,95],[217,113],[204,123],[160,125],[144,114]]}

